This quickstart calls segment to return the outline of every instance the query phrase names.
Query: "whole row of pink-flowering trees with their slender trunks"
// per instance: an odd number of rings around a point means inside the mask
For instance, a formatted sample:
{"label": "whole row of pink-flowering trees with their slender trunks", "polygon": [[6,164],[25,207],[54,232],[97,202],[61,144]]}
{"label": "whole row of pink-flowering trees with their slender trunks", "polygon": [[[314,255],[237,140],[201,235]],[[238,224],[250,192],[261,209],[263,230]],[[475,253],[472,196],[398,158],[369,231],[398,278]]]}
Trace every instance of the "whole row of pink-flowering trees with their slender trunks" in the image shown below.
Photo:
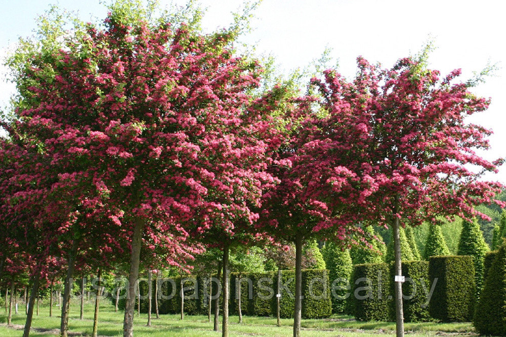
{"label": "whole row of pink-flowering trees with their slender trunks", "polygon": [[[208,34],[191,6],[117,1],[103,24],[72,28],[52,13],[7,61],[18,93],[0,124],[1,277],[29,278],[25,336],[41,285],[65,270],[66,336],[70,278],[113,265],[128,274],[132,336],[141,260],[189,272],[208,248],[228,335],[230,249],[283,243],[296,251],[299,336],[304,243],[370,248],[364,228],[390,227],[400,275],[400,228],[483,215],[474,206],[502,188],[481,179],[502,161],[474,152],[491,131],[465,119],[488,107],[470,91],[480,78],[440,77],[428,49],[390,69],[359,57],[355,78],[328,69],[304,94],[234,49],[247,11]],[[402,335],[400,282],[395,296]]]}

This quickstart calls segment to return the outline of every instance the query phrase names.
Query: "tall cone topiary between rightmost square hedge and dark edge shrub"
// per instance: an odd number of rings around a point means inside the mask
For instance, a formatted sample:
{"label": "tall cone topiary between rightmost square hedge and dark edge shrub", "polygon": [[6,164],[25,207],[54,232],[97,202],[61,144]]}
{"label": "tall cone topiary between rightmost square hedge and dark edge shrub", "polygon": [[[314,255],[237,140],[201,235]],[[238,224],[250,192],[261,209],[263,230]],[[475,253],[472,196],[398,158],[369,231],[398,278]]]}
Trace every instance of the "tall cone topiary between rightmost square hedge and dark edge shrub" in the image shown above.
{"label": "tall cone topiary between rightmost square hedge and dark edge shrub", "polygon": [[475,266],[476,298],[479,299],[481,288],[483,287],[483,260],[485,253],[489,251],[485,243],[483,234],[480,230],[478,221],[463,221],[462,232],[458,242],[458,255],[470,255],[473,257]]}

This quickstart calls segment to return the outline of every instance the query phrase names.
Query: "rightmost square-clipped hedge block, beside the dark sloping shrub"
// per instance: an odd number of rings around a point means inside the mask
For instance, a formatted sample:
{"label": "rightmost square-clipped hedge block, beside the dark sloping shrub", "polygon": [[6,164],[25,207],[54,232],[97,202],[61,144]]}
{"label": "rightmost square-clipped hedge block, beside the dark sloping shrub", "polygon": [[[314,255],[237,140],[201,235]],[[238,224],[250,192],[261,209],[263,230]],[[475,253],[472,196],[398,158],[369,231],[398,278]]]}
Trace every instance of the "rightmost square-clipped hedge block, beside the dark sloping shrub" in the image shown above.
{"label": "rightmost square-clipped hedge block, beside the dark sloping shrub", "polygon": [[429,280],[437,278],[429,312],[444,322],[468,322],[475,305],[475,270],[471,256],[432,256]]}

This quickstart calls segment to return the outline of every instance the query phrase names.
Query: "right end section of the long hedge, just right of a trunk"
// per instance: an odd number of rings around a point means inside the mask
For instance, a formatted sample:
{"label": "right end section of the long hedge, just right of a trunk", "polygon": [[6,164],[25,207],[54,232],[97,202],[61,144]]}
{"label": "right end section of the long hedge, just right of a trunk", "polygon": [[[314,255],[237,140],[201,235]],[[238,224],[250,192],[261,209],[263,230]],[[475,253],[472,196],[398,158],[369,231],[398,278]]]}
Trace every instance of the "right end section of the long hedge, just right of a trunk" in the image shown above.
{"label": "right end section of the long hedge, just right of a trunk", "polygon": [[328,270],[303,270],[302,294],[302,318],[326,318],[332,314]]}

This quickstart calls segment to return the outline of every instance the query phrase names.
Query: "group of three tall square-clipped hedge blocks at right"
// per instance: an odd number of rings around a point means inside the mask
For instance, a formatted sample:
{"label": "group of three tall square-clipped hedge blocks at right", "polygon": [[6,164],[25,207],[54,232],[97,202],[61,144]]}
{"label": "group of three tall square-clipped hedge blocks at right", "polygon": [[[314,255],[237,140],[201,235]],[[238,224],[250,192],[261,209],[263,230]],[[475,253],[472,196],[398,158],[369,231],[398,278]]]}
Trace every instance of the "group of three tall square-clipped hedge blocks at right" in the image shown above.
{"label": "group of three tall square-clipped hedge blocks at right", "polygon": [[[395,320],[395,274],[393,264],[354,266],[350,302],[356,319]],[[406,322],[471,320],[475,306],[472,257],[438,256],[431,257],[429,262],[403,261],[402,275]]]}

